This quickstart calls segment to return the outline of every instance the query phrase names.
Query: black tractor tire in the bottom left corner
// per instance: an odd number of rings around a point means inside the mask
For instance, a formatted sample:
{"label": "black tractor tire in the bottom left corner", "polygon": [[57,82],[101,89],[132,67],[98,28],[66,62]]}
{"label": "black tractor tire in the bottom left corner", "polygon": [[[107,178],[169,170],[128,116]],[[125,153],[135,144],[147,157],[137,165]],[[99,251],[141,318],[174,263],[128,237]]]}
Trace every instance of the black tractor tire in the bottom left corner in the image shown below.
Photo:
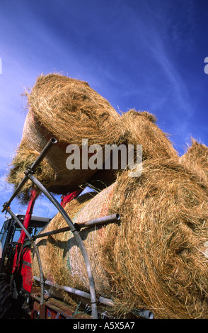
{"label": "black tractor tire in the bottom left corner", "polygon": [[9,316],[12,304],[12,295],[8,283],[5,280],[0,281],[0,319],[6,319]]}

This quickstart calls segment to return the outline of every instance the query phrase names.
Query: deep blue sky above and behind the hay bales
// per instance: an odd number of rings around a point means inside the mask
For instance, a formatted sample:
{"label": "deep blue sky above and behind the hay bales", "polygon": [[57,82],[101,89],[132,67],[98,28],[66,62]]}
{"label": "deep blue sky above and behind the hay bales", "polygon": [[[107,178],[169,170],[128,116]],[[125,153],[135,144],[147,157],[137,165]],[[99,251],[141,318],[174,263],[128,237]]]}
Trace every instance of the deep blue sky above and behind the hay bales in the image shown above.
{"label": "deep blue sky above and behind the hay bales", "polygon": [[[0,0],[0,207],[12,193],[4,179],[21,141],[21,94],[42,73],[88,81],[118,112],[154,113],[179,154],[190,137],[208,145],[207,13],[204,0]],[[35,215],[54,213],[37,202]]]}

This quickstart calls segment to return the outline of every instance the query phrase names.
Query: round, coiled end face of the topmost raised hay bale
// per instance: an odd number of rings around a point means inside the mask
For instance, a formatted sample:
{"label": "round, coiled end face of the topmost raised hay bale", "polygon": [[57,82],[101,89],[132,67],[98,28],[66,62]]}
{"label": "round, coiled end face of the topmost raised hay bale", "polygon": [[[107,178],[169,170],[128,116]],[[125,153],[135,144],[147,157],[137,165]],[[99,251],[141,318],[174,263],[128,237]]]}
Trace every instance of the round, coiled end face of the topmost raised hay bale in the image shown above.
{"label": "round, coiled end face of the topmost raised hay bale", "polygon": [[41,75],[28,94],[35,119],[60,142],[103,145],[118,142],[120,116],[86,81],[59,74]]}

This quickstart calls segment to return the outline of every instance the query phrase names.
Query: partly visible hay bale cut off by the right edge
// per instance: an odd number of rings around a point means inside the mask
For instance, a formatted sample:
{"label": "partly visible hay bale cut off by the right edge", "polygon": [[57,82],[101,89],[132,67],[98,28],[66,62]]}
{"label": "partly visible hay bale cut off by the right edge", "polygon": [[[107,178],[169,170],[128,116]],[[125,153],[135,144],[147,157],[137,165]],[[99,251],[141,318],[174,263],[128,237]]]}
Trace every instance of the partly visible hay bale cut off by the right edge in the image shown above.
{"label": "partly visible hay bale cut off by the right edge", "polygon": [[192,145],[180,157],[180,163],[196,172],[201,181],[208,186],[208,147],[206,145],[192,139]]}

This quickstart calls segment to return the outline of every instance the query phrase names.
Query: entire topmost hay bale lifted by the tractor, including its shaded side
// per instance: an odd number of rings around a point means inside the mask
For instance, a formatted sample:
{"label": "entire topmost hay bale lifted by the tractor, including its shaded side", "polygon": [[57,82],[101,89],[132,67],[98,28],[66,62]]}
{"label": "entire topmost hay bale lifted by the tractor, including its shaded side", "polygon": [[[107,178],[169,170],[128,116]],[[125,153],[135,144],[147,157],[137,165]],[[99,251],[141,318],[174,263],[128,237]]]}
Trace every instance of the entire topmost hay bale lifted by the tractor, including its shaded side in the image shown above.
{"label": "entire topmost hay bale lifted by the tractor, including its shaded side", "polygon": [[[84,139],[88,140],[88,146],[96,144],[103,147],[107,143],[119,143],[124,135],[120,115],[86,82],[59,74],[38,77],[27,96],[29,111],[21,144],[11,162],[8,182],[18,186],[25,167],[34,162],[51,137],[56,137],[58,144],[47,155],[36,175],[53,193],[74,191],[91,178],[96,169],[89,169],[88,166],[82,169],[82,155],[81,169],[67,169],[69,154],[66,147],[70,144],[82,147]],[[21,194],[25,202],[28,201],[30,189],[29,181]]]}

